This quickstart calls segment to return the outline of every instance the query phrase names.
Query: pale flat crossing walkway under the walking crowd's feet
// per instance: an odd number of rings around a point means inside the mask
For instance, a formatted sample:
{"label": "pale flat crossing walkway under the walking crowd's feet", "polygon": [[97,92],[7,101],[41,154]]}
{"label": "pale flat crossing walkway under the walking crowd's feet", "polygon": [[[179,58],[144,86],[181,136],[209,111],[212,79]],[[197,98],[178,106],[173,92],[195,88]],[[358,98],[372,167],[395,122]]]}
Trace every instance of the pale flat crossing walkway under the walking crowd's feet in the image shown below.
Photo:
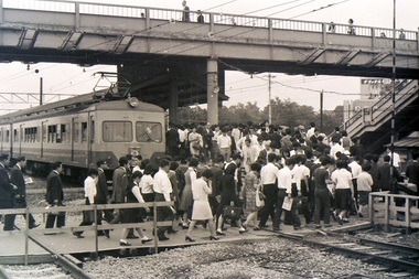
{"label": "pale flat crossing walkway under the walking crowd's feet", "polygon": [[[77,238],[73,235],[71,228],[77,227],[79,221],[69,221],[66,224],[66,228],[54,234],[45,235],[43,229],[44,224],[40,227],[30,230],[30,238],[28,243],[28,264],[40,264],[53,261],[51,257],[51,250],[58,255],[92,255],[96,250],[96,238],[94,230],[84,232],[84,238]],[[144,234],[153,238],[152,236],[152,223],[143,223]],[[17,218],[17,225],[24,225],[24,219],[21,217]],[[351,227],[369,227],[370,224],[366,218],[350,218],[350,223],[340,226],[337,223],[333,224],[332,227],[322,228],[323,232],[336,232],[341,229],[347,229]],[[186,229],[182,227],[174,226],[178,230],[175,234],[168,235],[169,240],[159,242],[159,251],[186,247],[193,245],[203,245],[214,243],[210,240],[210,232],[202,225],[197,225],[193,230],[192,237],[195,239],[194,243],[185,242]],[[225,236],[222,236],[218,240],[219,243],[253,243],[253,242],[264,242],[271,238],[275,234],[270,229],[272,228],[271,223],[268,223],[266,229],[254,230],[253,227],[248,227],[248,233],[239,234],[237,227],[230,227],[226,225],[226,230],[224,230]],[[15,229],[13,232],[3,232],[2,225],[0,225],[0,265],[22,265],[25,260],[25,233],[24,230]],[[121,236],[121,228],[116,228],[110,233],[110,238],[106,236],[98,237],[98,253],[103,254],[115,254],[123,253],[123,250],[142,250],[142,254],[154,253],[153,242],[141,244],[138,239],[128,239],[131,246],[120,246],[119,239]],[[281,233],[293,234],[296,237],[302,237],[310,234],[316,234],[319,229],[315,229],[313,224],[305,225],[302,229],[294,230],[292,226],[281,225]],[[41,243],[45,248],[40,246]]]}

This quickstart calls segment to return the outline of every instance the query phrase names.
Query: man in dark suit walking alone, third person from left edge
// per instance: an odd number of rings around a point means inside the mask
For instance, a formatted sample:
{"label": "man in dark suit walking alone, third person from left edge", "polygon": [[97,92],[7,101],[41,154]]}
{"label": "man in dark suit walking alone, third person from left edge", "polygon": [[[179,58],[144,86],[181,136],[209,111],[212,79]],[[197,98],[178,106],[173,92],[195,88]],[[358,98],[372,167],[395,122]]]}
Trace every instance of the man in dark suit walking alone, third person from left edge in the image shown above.
{"label": "man in dark suit walking alone, third person from left edge", "polygon": [[[53,162],[52,171],[46,176],[46,202],[50,206],[64,206],[64,192],[60,174],[63,171],[63,163],[60,161]],[[56,227],[65,225],[65,214],[53,213],[46,217],[45,228],[53,228],[56,219]]]}

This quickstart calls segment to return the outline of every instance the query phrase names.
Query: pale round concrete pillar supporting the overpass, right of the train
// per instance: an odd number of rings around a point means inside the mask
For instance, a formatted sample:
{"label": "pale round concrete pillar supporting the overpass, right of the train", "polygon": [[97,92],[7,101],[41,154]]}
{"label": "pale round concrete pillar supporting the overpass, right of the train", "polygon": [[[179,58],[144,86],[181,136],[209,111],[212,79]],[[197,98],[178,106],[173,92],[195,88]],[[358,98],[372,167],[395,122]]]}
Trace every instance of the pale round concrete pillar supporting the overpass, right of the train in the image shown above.
{"label": "pale round concrete pillar supporting the overpass, right of the train", "polygon": [[218,62],[208,60],[206,62],[206,98],[207,98],[207,121],[212,125],[218,124]]}

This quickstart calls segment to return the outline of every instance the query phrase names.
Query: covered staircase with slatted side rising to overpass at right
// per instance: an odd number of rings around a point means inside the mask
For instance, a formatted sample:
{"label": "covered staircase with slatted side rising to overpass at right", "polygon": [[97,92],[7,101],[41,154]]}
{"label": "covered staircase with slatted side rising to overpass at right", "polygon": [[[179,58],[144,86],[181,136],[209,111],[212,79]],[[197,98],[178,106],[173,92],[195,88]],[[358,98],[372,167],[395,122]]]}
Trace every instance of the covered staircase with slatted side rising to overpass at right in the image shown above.
{"label": "covered staircase with slatted side rising to overpass at right", "polygon": [[[417,79],[406,79],[396,86],[395,128],[397,136],[415,131],[419,125],[419,85]],[[393,92],[372,107],[364,107],[344,124],[351,138],[359,137],[366,152],[379,153],[390,142]],[[417,129],[417,128],[416,128]]]}

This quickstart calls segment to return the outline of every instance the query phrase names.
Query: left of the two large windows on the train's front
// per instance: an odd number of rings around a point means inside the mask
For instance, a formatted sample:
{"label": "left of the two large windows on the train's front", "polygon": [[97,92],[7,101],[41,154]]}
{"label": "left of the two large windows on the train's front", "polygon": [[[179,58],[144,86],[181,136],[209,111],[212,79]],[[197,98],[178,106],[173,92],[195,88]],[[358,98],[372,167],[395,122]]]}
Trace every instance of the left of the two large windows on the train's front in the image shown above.
{"label": "left of the two large windows on the train's front", "polygon": [[132,141],[132,124],[130,121],[104,121],[104,141],[130,142]]}

